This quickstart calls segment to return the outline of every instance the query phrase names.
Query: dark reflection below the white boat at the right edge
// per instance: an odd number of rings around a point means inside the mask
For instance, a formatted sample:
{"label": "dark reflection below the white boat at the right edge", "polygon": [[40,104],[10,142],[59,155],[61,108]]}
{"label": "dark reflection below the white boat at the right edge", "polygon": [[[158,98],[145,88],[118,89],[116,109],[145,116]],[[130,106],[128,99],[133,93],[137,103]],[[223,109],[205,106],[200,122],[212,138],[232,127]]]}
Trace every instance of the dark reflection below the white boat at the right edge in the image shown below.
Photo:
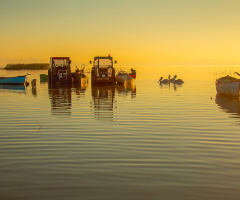
{"label": "dark reflection below the white boat at the right edge", "polygon": [[217,94],[215,102],[226,113],[230,113],[231,118],[240,118],[239,98]]}

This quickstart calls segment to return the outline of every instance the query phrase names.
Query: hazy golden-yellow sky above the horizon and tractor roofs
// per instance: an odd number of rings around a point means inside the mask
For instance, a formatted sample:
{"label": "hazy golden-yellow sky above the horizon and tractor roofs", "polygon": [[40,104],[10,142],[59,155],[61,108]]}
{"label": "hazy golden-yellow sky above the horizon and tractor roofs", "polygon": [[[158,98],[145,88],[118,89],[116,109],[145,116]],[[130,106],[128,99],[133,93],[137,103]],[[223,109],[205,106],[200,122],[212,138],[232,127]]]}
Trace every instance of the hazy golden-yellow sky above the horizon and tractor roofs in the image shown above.
{"label": "hazy golden-yellow sky above the horizon and tractor roofs", "polygon": [[111,54],[122,64],[240,64],[239,0],[1,0],[0,65]]}

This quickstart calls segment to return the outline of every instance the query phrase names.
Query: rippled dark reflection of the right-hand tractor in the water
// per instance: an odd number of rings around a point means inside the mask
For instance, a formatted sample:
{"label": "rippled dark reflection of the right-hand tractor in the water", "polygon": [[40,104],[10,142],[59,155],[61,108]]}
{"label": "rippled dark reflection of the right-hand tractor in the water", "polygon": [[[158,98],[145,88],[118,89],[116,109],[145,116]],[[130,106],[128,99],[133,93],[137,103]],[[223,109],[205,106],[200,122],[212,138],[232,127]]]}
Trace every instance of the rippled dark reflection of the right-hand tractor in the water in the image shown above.
{"label": "rippled dark reflection of the right-hand tractor in the water", "polygon": [[91,107],[95,119],[113,121],[115,88],[115,85],[92,85]]}

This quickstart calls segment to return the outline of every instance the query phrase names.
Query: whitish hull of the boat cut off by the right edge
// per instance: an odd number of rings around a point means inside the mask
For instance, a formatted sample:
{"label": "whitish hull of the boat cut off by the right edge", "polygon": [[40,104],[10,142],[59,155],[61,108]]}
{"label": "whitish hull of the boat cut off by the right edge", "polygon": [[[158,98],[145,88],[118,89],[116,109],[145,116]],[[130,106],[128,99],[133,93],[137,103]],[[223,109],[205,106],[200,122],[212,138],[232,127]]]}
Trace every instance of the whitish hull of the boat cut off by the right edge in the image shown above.
{"label": "whitish hull of the boat cut off by the right edge", "polygon": [[240,80],[229,81],[225,83],[216,82],[216,90],[218,94],[228,96],[239,96]]}

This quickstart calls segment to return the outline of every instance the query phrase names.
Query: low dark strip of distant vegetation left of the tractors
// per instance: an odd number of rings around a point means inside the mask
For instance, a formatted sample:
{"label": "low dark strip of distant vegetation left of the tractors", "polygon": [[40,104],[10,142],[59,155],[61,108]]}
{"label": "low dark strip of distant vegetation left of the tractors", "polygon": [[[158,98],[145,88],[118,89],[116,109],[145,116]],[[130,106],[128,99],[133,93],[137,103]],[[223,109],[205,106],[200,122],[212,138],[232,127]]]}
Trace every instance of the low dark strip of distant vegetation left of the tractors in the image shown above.
{"label": "low dark strip of distant vegetation left of the tractors", "polygon": [[6,70],[45,70],[49,68],[48,63],[32,63],[32,64],[7,64]]}

